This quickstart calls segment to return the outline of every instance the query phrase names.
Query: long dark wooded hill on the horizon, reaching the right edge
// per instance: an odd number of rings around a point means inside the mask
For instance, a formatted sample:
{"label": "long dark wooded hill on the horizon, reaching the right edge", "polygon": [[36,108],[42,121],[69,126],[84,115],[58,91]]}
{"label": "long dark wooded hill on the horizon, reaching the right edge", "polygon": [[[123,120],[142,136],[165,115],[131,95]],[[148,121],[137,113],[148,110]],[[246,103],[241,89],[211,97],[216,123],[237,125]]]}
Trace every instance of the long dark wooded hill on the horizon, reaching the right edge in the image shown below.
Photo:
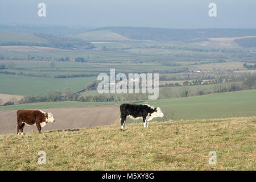
{"label": "long dark wooded hill on the horizon, reaching the right edge", "polygon": [[241,37],[256,35],[256,29],[170,29],[170,28],[147,28],[147,27],[102,27],[91,31],[111,31],[128,39],[175,41],[221,37]]}

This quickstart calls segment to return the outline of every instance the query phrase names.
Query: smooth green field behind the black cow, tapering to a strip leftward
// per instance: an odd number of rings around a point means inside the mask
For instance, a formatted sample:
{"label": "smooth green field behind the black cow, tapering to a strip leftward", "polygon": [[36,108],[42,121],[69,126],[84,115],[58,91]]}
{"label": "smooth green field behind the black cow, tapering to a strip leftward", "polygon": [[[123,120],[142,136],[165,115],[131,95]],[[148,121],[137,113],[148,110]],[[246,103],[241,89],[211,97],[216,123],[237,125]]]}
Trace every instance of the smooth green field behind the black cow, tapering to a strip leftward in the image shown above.
{"label": "smooth green field behind the black cow, tapering to a strip leftward", "polygon": [[[256,116],[256,90],[208,94],[205,96],[170,98],[162,100],[134,101],[134,104],[150,104],[163,110],[168,119],[211,119]],[[127,102],[126,102],[127,103]],[[39,102],[1,106],[0,110],[43,109],[56,107],[80,107],[94,105],[122,104],[122,102]],[[134,122],[133,120],[128,120]],[[136,121],[142,122],[142,121]]]}

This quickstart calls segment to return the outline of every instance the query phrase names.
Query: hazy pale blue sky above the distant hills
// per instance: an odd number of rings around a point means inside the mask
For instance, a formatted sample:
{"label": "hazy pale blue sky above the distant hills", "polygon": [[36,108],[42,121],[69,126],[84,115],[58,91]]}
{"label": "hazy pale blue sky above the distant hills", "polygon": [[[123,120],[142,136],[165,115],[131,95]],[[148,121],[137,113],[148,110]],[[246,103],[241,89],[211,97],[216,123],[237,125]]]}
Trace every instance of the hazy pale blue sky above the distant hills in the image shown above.
{"label": "hazy pale blue sky above the distant hills", "polygon": [[[46,3],[46,17],[38,4]],[[216,3],[217,17],[208,15]],[[255,0],[0,0],[0,24],[256,28]]]}

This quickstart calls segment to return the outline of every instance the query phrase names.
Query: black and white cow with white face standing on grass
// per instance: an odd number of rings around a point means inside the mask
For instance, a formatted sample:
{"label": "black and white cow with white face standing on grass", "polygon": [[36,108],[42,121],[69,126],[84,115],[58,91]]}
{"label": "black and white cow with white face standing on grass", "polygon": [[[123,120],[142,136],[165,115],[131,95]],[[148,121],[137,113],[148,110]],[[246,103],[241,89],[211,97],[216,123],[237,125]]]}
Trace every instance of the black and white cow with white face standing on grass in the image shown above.
{"label": "black and white cow with white face standing on grass", "polygon": [[164,116],[159,107],[155,108],[147,104],[122,104],[120,106],[120,113],[120,122],[122,129],[125,128],[125,122],[127,117],[131,119],[143,119],[144,127],[148,127],[148,121],[151,121],[153,118],[156,117],[162,118]]}

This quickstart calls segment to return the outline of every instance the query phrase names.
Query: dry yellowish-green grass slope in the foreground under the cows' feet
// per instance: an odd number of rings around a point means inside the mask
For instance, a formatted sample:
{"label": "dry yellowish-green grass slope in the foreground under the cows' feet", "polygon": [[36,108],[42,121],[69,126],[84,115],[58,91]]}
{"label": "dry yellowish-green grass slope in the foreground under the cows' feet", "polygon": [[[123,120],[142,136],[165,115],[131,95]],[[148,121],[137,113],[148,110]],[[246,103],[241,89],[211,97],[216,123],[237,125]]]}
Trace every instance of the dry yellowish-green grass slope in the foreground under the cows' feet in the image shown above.
{"label": "dry yellowish-green grass slope in the foreground under the cows' feet", "polygon": [[[1,170],[255,170],[255,117],[0,136]],[[43,142],[42,142],[43,141]],[[46,165],[38,152],[46,152]],[[217,154],[210,165],[209,151]]]}

